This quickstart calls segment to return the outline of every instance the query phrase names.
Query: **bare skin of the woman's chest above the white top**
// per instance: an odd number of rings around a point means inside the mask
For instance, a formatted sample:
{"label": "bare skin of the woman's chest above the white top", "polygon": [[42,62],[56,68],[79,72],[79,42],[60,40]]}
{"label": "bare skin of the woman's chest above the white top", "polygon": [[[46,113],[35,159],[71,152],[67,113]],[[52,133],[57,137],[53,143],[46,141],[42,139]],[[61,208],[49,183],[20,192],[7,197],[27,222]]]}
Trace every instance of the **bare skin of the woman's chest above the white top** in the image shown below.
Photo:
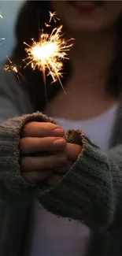
{"label": "bare skin of the woman's chest above the white top", "polygon": [[98,117],[116,104],[116,98],[104,98],[91,93],[72,88],[61,91],[53,101],[48,103],[50,117],[65,118],[74,121],[87,120]]}

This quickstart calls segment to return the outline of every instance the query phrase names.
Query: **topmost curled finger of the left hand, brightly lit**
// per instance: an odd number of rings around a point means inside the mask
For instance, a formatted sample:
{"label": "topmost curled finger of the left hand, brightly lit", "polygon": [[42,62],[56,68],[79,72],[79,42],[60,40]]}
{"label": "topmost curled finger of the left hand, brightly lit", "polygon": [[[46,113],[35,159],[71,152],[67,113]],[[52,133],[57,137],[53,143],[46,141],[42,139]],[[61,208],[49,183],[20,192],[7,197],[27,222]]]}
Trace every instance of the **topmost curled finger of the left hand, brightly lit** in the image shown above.
{"label": "topmost curled finger of the left hand, brightly lit", "polygon": [[63,136],[65,131],[57,124],[48,122],[29,122],[24,125],[21,137]]}

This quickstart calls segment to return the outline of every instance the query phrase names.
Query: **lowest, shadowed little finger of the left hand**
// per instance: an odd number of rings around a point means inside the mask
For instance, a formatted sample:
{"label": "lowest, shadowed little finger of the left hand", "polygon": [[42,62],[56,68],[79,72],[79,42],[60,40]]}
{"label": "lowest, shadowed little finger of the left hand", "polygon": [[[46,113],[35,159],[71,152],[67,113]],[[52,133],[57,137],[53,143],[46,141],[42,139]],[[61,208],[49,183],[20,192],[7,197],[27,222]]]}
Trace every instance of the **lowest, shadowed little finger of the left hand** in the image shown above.
{"label": "lowest, shadowed little finger of the left hand", "polygon": [[36,171],[36,172],[24,172],[23,177],[25,180],[28,180],[28,182],[38,182],[43,181],[49,178],[52,175],[51,171]]}

